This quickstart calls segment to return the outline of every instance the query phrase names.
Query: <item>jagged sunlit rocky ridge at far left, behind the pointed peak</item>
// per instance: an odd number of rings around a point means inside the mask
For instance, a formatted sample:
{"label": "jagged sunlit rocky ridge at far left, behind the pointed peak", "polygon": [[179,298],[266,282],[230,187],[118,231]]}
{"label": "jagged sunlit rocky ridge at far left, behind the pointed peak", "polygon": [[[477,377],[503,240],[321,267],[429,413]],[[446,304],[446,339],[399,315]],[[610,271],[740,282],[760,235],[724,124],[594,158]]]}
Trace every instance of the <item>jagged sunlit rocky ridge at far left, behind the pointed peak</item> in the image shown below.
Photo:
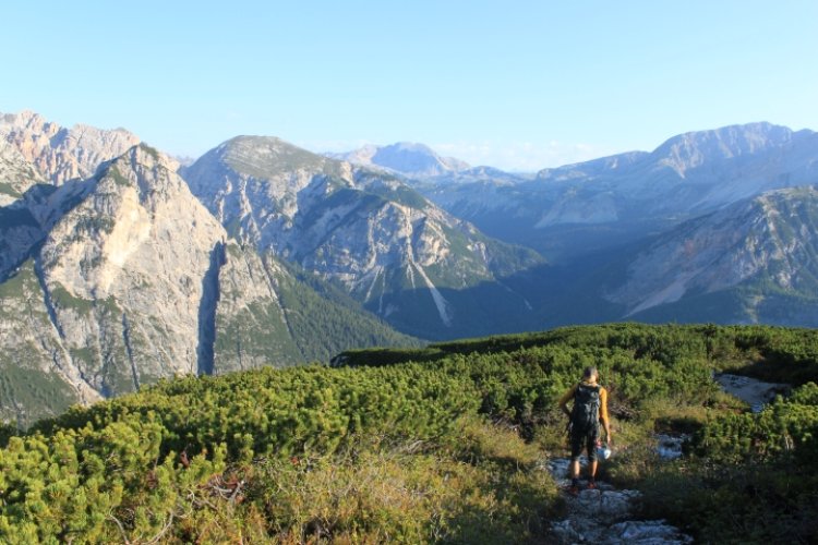
{"label": "jagged sunlit rocky ridge at far left, behind the pointed peak", "polygon": [[32,111],[0,114],[0,138],[55,185],[93,175],[101,162],[119,157],[140,142],[123,129],[67,129]]}

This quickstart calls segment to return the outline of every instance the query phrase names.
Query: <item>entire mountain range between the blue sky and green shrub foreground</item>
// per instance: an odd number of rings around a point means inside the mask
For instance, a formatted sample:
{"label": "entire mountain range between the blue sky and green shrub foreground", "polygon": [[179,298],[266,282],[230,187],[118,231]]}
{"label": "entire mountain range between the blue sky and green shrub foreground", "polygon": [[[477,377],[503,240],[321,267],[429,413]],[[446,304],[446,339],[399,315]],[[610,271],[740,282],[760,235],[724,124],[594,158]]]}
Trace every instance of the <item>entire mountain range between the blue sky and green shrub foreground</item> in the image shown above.
{"label": "entire mountain range between the blue sky and green shrub foreground", "polygon": [[176,374],[604,320],[818,326],[818,133],[537,173],[237,136],[179,161],[0,114],[0,419]]}

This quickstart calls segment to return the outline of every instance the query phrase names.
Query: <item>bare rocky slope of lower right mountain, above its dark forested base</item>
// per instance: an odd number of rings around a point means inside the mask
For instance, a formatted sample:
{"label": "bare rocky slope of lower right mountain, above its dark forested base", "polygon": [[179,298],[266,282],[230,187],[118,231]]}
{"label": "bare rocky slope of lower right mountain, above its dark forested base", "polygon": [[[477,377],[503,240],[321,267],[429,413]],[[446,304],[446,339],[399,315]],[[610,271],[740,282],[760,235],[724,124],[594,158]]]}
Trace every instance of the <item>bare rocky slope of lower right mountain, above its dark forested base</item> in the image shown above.
{"label": "bare rocky slope of lower right mountain, above its dark forested base", "polygon": [[763,277],[781,291],[809,290],[818,244],[818,191],[779,190],[689,221],[660,237],[609,299],[629,314]]}

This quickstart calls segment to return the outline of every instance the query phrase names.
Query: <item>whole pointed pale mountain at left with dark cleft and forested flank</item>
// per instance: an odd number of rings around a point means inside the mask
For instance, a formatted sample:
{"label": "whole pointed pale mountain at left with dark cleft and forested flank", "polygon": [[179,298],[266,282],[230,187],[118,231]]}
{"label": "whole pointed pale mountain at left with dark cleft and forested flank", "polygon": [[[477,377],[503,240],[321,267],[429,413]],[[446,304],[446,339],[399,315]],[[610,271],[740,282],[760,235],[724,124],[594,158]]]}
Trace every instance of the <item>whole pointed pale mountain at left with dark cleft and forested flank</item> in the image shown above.
{"label": "whole pointed pale mountain at left with dark cleft and forested flank", "polygon": [[413,342],[229,240],[175,168],[139,145],[0,208],[32,233],[3,239],[0,419],[29,423],[175,374]]}

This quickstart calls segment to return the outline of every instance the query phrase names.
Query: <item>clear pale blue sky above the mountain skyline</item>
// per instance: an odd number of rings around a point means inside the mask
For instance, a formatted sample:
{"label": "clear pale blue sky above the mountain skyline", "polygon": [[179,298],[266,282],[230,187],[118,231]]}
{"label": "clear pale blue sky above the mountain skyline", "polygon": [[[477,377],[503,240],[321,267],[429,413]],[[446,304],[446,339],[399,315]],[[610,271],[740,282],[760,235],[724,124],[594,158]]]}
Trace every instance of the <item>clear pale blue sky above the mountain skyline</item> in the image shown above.
{"label": "clear pale blue sky above the mountain skyline", "polygon": [[818,1],[3,2],[0,111],[199,156],[422,142],[536,170],[678,133],[818,130]]}

